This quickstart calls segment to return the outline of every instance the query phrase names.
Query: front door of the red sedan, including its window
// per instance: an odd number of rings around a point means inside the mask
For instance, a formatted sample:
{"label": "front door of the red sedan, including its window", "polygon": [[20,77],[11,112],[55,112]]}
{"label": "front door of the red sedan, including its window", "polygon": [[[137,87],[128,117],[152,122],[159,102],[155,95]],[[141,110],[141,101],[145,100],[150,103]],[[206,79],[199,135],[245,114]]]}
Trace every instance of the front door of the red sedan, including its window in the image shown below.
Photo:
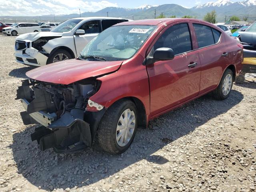
{"label": "front door of the red sedan, including its window", "polygon": [[188,23],[175,23],[161,34],[150,52],[168,47],[175,56],[147,66],[152,116],[197,96],[200,90],[200,59],[193,51]]}

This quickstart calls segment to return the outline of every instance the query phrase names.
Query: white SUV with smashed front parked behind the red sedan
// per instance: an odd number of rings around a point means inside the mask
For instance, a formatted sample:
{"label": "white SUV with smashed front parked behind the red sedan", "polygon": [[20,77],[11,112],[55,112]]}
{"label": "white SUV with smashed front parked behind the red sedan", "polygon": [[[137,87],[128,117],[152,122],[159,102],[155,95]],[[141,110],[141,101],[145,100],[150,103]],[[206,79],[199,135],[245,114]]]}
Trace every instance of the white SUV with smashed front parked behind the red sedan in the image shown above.
{"label": "white SUV with smashed front parked behind the red sedan", "polygon": [[126,21],[128,19],[111,17],[74,18],[59,24],[50,32],[20,35],[16,38],[16,61],[43,66],[76,58],[100,32]]}

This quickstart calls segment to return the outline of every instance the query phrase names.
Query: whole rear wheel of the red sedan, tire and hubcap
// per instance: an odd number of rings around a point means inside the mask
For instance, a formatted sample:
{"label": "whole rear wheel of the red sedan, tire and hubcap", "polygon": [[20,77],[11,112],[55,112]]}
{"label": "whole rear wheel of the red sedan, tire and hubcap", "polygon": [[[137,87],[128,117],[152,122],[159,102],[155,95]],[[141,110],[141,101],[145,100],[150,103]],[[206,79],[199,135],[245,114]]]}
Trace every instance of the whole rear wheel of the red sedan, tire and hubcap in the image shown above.
{"label": "whole rear wheel of the red sedan, tire and hubcap", "polygon": [[217,100],[226,99],[229,96],[230,91],[232,89],[233,81],[234,80],[233,80],[232,70],[226,69],[226,71],[224,72],[224,74],[220,80],[220,84],[218,85],[216,90],[214,90],[212,92],[214,98]]}

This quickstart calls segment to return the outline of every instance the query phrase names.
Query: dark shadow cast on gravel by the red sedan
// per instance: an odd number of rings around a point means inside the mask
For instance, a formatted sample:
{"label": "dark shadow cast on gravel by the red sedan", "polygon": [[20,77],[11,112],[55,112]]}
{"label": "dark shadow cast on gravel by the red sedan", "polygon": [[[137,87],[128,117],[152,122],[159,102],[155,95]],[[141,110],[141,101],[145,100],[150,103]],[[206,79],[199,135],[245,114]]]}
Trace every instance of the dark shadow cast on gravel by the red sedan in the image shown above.
{"label": "dark shadow cast on gravel by the red sedan", "polygon": [[80,188],[104,178],[108,178],[106,182],[111,182],[115,173],[136,173],[138,170],[133,168],[133,165],[138,162],[152,162],[154,170],[158,172],[163,164],[175,161],[161,149],[170,150],[174,140],[226,113],[243,98],[243,94],[236,90],[232,90],[224,101],[214,100],[209,94],[202,96],[152,120],[151,128],[138,129],[130,148],[120,155],[103,152],[97,142],[93,148],[72,154],[56,154],[51,149],[42,152],[38,144],[30,139],[30,134],[36,126],[27,126],[21,132],[13,134],[13,144],[10,148],[18,173],[45,190],[49,190],[49,186],[63,189],[74,186]]}

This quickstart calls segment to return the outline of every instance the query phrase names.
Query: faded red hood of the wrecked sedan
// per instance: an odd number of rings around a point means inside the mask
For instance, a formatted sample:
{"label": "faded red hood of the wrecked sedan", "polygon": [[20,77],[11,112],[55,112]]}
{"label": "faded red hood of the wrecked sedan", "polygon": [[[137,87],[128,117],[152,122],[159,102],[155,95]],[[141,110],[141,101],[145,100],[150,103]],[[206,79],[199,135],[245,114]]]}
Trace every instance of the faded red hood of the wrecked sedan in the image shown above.
{"label": "faded red hood of the wrecked sedan", "polygon": [[34,80],[58,84],[70,84],[118,70],[123,61],[66,60],[45,65],[26,72]]}

